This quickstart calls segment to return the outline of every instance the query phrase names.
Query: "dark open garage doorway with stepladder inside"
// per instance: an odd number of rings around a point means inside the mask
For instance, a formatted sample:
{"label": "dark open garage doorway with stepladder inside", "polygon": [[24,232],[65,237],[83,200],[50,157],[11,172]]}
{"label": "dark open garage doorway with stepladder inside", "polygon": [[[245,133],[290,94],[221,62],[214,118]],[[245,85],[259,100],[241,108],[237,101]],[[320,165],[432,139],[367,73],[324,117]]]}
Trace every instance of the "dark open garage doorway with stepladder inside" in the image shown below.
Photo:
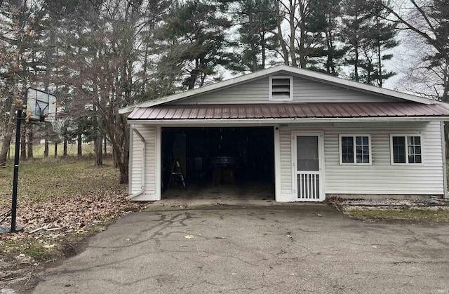
{"label": "dark open garage doorway with stepladder inside", "polygon": [[161,150],[163,198],[194,190],[274,200],[273,127],[162,128]]}

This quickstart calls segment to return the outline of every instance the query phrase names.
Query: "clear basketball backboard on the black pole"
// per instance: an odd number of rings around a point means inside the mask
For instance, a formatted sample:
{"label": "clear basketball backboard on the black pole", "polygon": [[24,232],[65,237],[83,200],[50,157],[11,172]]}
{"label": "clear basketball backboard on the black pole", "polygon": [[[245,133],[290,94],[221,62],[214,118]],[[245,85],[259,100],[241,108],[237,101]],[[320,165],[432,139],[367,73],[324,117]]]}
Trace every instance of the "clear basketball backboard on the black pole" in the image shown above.
{"label": "clear basketball backboard on the black pole", "polygon": [[57,112],[56,96],[35,88],[27,88],[27,117],[32,121],[45,121],[48,113]]}

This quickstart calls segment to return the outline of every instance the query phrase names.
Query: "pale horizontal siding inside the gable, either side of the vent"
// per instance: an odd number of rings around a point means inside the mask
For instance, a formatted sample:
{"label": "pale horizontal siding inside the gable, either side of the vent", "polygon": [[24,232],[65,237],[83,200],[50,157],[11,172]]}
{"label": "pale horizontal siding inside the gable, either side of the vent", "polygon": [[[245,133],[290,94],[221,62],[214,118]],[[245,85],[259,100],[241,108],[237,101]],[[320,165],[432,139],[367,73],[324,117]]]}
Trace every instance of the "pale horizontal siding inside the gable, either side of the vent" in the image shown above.
{"label": "pale horizontal siding inside the gable, either side of the vent", "polygon": [[[243,104],[279,103],[269,100],[269,77],[248,81],[219,91],[192,96],[170,104]],[[342,86],[322,83],[293,76],[293,101],[291,102],[394,102],[395,98],[355,91]],[[289,102],[286,102],[289,103]]]}

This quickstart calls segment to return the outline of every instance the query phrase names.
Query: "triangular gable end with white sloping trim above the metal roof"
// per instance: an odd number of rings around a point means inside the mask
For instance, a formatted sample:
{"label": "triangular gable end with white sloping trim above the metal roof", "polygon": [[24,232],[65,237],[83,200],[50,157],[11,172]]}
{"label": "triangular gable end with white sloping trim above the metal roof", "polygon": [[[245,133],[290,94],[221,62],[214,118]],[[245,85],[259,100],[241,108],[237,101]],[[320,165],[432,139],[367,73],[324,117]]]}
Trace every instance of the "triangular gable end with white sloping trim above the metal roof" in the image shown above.
{"label": "triangular gable end with white sloping trim above the metal roof", "polygon": [[293,83],[293,100],[291,102],[295,103],[395,101],[418,102],[422,104],[438,103],[435,100],[340,79],[307,69],[279,65],[183,93],[124,107],[119,112],[124,114],[131,112],[135,107],[152,107],[162,104],[189,105],[276,102],[269,99],[270,86],[272,86],[270,76],[279,76],[281,78],[293,77],[291,80]]}

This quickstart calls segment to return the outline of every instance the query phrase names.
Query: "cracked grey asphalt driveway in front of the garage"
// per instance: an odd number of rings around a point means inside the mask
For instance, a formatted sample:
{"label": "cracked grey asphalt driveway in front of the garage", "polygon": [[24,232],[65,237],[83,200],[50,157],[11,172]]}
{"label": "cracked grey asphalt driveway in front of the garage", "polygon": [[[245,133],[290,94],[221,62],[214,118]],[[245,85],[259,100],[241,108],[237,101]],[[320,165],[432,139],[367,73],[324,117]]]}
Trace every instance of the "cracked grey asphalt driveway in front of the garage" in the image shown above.
{"label": "cracked grey asphalt driveway in front of the garage", "polygon": [[41,278],[35,293],[449,293],[449,226],[324,205],[144,211]]}

